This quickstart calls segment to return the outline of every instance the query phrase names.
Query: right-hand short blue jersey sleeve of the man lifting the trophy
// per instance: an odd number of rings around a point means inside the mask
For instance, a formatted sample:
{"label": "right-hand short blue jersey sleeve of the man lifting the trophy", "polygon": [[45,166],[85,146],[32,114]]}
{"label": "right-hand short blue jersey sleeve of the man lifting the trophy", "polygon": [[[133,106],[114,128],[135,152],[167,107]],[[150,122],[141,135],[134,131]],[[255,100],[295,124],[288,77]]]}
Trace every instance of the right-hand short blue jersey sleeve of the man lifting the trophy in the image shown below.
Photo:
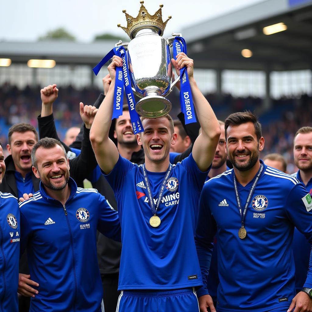
{"label": "right-hand short blue jersey sleeve of the man lifting the trophy", "polygon": [[202,172],[198,168],[197,163],[193,158],[193,154],[191,153],[187,158],[182,160],[181,166],[183,166],[183,168],[185,168],[188,172],[189,181],[193,184],[195,190],[197,192],[201,192],[207,175],[211,169],[211,165],[207,171]]}

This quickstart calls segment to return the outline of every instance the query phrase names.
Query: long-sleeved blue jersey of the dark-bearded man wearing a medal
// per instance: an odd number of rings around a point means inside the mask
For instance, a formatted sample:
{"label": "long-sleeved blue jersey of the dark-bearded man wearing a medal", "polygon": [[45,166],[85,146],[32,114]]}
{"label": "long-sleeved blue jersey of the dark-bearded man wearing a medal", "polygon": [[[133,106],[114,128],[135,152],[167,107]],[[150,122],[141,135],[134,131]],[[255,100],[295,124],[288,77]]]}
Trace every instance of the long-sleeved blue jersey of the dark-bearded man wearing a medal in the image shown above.
{"label": "long-sleeved blue jersey of the dark-bearded man wearing a medal", "polygon": [[[263,162],[261,161],[263,164]],[[218,241],[217,311],[269,311],[289,307],[295,296],[291,250],[294,227],[312,241],[312,199],[302,183],[264,165],[245,218],[247,236],[240,239],[233,169],[210,179],[203,188],[196,228],[197,254],[206,284],[214,235]],[[256,178],[256,177],[255,177]],[[255,178],[238,183],[245,206]],[[312,288],[312,261],[305,287]],[[208,276],[209,278],[209,276]],[[202,287],[197,295],[207,294]]]}

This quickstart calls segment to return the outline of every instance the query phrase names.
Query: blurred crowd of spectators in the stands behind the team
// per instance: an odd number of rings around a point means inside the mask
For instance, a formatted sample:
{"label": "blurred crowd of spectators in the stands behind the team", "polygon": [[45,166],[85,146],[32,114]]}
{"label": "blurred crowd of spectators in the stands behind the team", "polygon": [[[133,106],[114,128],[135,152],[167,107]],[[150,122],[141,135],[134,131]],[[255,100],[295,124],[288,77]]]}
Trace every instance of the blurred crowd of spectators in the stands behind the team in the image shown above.
{"label": "blurred crowd of spectators in the stands behind the team", "polygon": [[[27,86],[18,89],[16,86],[4,84],[0,88],[0,139],[7,144],[7,131],[17,123],[29,123],[37,128],[37,116],[41,111],[40,86]],[[80,126],[79,102],[92,105],[100,90],[96,87],[76,89],[72,86],[60,87],[60,92],[54,103],[54,117],[59,137],[64,139],[66,129]],[[271,109],[263,110],[261,98],[234,98],[231,95],[217,97],[215,94],[205,95],[219,119],[224,119],[232,112],[256,111],[263,125],[265,149],[263,155],[269,153],[282,154],[287,160],[287,171],[293,173],[296,167],[293,163],[293,138],[301,126],[312,126],[312,97],[302,95],[298,98],[282,98],[273,100]],[[180,105],[178,93],[169,96],[173,104],[173,118],[178,114]]]}

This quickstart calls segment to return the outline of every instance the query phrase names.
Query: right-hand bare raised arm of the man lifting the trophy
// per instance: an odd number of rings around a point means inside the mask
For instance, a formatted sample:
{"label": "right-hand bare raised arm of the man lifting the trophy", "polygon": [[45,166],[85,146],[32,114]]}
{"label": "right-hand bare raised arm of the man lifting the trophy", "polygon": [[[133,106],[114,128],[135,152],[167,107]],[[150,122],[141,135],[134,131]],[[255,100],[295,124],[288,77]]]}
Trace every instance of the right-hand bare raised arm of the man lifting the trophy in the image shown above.
{"label": "right-hand bare raised arm of the man lifting the trophy", "polygon": [[183,67],[187,67],[188,79],[191,86],[193,102],[197,111],[198,121],[202,127],[202,133],[193,144],[193,158],[201,171],[207,171],[214,158],[219,137],[220,125],[211,106],[197,87],[193,76],[193,60],[185,53],[179,53],[176,60],[172,60],[177,74]]}

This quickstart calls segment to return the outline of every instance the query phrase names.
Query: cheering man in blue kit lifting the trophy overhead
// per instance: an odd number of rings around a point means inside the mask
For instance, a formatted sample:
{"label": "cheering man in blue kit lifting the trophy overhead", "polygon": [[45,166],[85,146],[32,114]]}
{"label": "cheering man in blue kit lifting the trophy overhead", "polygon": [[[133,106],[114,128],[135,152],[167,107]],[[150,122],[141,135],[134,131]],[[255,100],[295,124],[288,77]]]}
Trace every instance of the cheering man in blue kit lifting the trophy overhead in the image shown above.
{"label": "cheering man in blue kit lifting the trophy overhead", "polygon": [[115,192],[122,228],[117,311],[198,311],[194,287],[202,285],[194,243],[199,194],[212,163],[220,126],[193,78],[193,60],[180,53],[173,64],[187,67],[202,134],[192,154],[177,165],[169,150],[177,134],[169,115],[141,118],[137,134],[145,153],[144,165],[121,157],[108,133],[113,112],[116,66],[108,66],[110,89],[90,131],[97,161]]}

